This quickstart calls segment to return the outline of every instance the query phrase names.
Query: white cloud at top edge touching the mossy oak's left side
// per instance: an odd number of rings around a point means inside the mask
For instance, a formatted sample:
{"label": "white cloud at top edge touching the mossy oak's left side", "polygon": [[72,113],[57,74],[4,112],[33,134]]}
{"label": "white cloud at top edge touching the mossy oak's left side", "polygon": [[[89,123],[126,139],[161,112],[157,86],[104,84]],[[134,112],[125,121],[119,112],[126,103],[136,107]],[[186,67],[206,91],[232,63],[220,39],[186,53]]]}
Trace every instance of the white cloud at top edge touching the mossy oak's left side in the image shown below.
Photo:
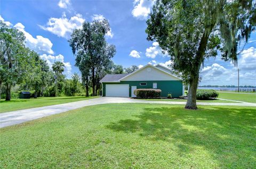
{"label": "white cloud at top edge touching the mossy oak's left side", "polygon": [[154,5],[155,0],[134,0],[132,15],[135,18],[145,20],[148,18],[151,7]]}

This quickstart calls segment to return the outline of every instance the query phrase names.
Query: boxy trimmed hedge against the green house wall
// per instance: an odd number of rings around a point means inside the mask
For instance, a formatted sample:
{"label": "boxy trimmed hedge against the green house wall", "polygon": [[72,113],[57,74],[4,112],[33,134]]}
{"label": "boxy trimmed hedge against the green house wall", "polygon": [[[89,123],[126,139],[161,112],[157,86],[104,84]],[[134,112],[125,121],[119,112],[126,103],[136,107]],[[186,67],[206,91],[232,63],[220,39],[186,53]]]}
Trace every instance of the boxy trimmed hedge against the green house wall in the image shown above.
{"label": "boxy trimmed hedge against the green house wall", "polygon": [[161,90],[153,88],[139,88],[134,90],[134,94],[138,98],[159,98],[161,96]]}

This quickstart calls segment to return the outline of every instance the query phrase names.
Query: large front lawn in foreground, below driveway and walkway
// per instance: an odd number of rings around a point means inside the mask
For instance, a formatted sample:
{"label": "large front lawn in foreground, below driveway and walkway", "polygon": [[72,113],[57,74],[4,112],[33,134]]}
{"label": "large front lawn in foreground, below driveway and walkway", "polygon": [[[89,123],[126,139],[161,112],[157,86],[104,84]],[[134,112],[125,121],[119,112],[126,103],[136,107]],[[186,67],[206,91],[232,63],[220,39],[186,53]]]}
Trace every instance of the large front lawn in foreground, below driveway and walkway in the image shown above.
{"label": "large front lawn in foreground, below driveway and walkway", "polygon": [[255,107],[101,104],[1,128],[0,168],[255,168]]}

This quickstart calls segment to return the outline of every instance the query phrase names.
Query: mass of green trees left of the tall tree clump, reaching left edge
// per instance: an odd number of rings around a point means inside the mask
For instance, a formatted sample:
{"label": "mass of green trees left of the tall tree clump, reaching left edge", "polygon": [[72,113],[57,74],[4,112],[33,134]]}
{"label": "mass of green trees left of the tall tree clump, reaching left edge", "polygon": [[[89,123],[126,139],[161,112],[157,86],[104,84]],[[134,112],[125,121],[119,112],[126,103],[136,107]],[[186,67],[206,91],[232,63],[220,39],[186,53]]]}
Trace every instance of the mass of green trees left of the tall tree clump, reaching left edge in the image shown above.
{"label": "mass of green trees left of the tall tree clump, reaching left edge", "polygon": [[15,90],[33,91],[35,98],[83,92],[78,74],[65,79],[62,74],[65,66],[60,61],[50,68],[38,53],[25,46],[26,37],[21,31],[2,21],[0,30],[0,96],[6,101],[11,100]]}

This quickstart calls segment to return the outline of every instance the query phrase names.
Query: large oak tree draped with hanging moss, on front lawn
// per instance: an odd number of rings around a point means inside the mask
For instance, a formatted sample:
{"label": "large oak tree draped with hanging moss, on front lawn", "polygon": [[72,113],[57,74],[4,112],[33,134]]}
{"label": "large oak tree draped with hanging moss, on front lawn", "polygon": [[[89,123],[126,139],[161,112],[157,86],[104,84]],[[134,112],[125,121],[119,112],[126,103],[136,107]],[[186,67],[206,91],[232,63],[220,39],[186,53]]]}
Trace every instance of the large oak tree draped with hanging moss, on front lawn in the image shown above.
{"label": "large oak tree draped with hanging moss, on front lawn", "polygon": [[255,30],[255,1],[157,0],[147,20],[147,39],[155,40],[189,87],[187,109],[197,109],[199,70],[206,58],[221,53],[237,63],[238,47]]}

